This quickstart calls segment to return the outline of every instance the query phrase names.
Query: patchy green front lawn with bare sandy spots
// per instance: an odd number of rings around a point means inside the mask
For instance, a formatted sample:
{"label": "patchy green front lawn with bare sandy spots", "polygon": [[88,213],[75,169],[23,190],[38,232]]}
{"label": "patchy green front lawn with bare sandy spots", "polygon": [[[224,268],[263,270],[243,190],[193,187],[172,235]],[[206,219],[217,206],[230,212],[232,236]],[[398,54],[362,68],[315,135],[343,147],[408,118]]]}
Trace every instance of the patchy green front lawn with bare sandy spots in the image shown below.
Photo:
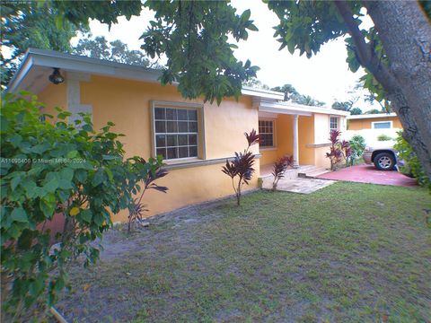
{"label": "patchy green front lawn with bare sandy spots", "polygon": [[57,309],[79,322],[429,322],[429,209],[426,190],[356,183],[191,207],[109,232]]}

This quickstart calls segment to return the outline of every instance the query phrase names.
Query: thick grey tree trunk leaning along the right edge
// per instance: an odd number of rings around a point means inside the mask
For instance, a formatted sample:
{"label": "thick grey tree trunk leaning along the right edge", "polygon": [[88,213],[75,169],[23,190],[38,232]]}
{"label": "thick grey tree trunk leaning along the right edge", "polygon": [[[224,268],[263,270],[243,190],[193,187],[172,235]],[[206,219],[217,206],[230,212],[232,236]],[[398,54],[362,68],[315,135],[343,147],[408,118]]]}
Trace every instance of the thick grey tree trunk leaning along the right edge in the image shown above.
{"label": "thick grey tree trunk leaning along the right edge", "polygon": [[372,72],[431,179],[431,23],[415,1],[364,1],[364,5],[390,61],[390,77]]}

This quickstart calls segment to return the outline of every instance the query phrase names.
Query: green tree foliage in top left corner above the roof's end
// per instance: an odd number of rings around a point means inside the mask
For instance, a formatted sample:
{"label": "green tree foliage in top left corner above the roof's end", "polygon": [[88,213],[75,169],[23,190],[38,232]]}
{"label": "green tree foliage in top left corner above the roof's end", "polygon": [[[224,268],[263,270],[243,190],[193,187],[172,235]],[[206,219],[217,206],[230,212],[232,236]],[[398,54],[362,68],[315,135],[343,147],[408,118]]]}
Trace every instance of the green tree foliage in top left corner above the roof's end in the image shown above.
{"label": "green tree foliage in top left corner above the roof's end", "polygon": [[[69,41],[75,36],[80,26],[65,21],[62,28],[57,28],[57,13],[50,5],[50,1],[2,3],[0,27],[2,86],[9,83],[28,48],[54,49],[61,52],[71,50]],[[7,50],[4,50],[6,48]],[[4,52],[10,52],[10,57],[4,57]]]}

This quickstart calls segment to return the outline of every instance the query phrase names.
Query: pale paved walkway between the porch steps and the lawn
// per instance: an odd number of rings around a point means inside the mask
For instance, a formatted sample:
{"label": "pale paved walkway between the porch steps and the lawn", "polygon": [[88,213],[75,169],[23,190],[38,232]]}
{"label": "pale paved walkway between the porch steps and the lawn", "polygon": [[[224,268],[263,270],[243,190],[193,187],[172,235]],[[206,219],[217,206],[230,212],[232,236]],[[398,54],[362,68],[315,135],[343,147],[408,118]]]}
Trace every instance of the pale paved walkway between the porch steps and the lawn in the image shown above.
{"label": "pale paved walkway between the porch steps and the lawn", "polygon": [[[262,188],[272,189],[273,179],[273,176],[263,178]],[[326,179],[280,179],[278,181],[277,190],[292,193],[310,194],[321,188],[326,188],[333,183],[335,183],[334,180]]]}

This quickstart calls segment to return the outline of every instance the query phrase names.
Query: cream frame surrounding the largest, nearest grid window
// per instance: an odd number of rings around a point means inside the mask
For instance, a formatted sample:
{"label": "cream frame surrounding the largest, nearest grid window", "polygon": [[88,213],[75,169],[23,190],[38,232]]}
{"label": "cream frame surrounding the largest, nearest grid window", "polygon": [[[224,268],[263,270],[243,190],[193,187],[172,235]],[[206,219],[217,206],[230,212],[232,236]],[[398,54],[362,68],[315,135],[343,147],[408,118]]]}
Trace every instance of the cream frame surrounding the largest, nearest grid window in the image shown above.
{"label": "cream frame surrounding the largest, nearest grid window", "polygon": [[[167,108],[167,109],[197,109],[198,110],[198,157],[184,157],[184,158],[172,158],[165,159],[163,162],[177,162],[177,161],[193,161],[193,160],[205,160],[207,159],[207,149],[205,147],[205,123],[204,123],[204,105],[200,103],[189,103],[189,102],[174,102],[174,101],[162,101],[152,100],[151,101],[151,141],[152,141],[152,156],[155,158],[156,143],[155,143],[155,108]],[[199,118],[200,116],[200,118]]]}

